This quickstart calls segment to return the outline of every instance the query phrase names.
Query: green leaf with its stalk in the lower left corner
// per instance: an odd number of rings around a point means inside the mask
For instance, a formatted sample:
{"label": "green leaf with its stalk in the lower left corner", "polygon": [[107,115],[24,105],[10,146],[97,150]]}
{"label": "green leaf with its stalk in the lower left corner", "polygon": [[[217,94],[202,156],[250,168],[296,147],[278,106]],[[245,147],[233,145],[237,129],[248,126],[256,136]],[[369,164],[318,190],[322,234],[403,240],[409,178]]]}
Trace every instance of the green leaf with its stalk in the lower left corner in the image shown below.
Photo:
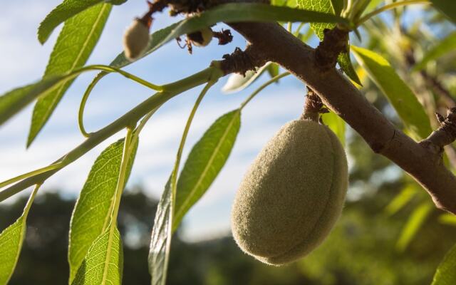
{"label": "green leaf with its stalk in the lower left corner", "polygon": [[21,254],[22,243],[26,235],[26,219],[28,211],[30,210],[33,199],[35,199],[38,186],[35,187],[33,192],[28,198],[24,212],[16,219],[14,224],[4,229],[0,234],[0,284],[8,284],[11,275],[13,275],[16,268],[19,254]]}

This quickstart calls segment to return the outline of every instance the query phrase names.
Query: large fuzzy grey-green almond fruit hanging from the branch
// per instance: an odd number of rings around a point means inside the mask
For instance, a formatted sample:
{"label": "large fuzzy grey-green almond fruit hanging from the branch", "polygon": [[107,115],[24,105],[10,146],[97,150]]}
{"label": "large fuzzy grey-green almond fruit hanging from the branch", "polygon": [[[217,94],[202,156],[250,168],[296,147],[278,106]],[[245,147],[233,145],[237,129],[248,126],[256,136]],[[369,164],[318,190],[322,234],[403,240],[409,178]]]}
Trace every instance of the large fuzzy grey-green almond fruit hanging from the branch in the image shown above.
{"label": "large fuzzy grey-green almond fruit hanging from the branch", "polygon": [[266,264],[309,254],[340,217],[348,188],[341,142],[325,125],[284,125],[244,176],[232,207],[239,247]]}

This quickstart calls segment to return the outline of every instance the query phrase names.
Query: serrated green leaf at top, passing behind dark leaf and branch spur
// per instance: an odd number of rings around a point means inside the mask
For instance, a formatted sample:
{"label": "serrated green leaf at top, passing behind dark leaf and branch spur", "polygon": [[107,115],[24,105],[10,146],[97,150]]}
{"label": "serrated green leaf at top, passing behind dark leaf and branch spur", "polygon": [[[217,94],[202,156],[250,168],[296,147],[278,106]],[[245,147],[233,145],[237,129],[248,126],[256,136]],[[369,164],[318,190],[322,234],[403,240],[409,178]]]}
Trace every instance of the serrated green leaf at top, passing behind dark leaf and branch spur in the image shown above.
{"label": "serrated green leaf at top, passing behind dark leaf and branch spur", "polygon": [[[339,0],[333,0],[338,2]],[[335,9],[333,9],[333,6],[331,6],[331,1],[330,0],[298,0],[298,4],[302,9],[306,9],[309,11],[318,11],[318,12],[323,12],[323,13],[330,13],[334,14],[334,11],[338,11],[336,9],[339,9],[339,6],[336,6]],[[311,28],[314,30],[314,33],[320,40],[323,40],[323,31],[325,28],[334,28],[336,24],[331,24],[331,23],[311,23]],[[346,75],[354,82],[359,84],[361,86],[361,81],[358,78],[358,75],[356,74],[355,68],[353,68],[353,65],[351,64],[350,60],[350,54],[349,53],[341,53],[338,58],[337,62],[339,63],[339,66],[341,66],[342,71],[346,73]]]}

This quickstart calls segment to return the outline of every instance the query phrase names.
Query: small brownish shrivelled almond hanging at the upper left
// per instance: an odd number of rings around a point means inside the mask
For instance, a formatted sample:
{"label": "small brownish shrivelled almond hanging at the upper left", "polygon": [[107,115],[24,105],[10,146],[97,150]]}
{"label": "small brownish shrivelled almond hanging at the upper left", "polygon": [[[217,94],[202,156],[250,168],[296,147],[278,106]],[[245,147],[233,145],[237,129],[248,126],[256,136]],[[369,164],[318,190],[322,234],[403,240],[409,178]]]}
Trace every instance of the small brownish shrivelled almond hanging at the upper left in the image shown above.
{"label": "small brownish shrivelled almond hanging at the upper left", "polygon": [[125,57],[133,61],[142,56],[149,41],[149,27],[140,21],[140,19],[133,20],[133,23],[123,34],[123,51]]}

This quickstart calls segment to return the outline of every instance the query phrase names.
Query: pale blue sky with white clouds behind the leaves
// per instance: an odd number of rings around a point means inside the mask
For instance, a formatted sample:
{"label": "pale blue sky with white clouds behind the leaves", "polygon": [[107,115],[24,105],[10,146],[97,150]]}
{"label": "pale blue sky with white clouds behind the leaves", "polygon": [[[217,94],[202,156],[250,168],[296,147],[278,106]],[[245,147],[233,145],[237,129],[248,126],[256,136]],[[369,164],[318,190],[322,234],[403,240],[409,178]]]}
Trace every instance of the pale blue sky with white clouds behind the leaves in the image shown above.
{"label": "pale blue sky with white clouds behind the leaves", "polygon": [[[54,31],[43,46],[36,39],[36,28],[48,11],[60,2],[16,0],[2,1],[0,4],[0,93],[36,81],[43,75],[60,28]],[[110,63],[121,50],[125,27],[145,9],[143,1],[128,1],[123,6],[115,6],[88,64]],[[170,18],[165,12],[156,17],[152,29],[162,28],[178,20],[180,19]],[[192,56],[171,42],[125,69],[153,83],[167,83],[206,68],[210,61],[222,58],[223,54],[234,51],[236,46],[245,46],[244,39],[237,33],[234,33],[234,41],[229,45],[217,46],[216,41],[213,41],[207,48],[195,48]],[[0,127],[0,180],[48,165],[83,141],[83,136],[78,132],[77,108],[83,91],[94,74],[84,74],[73,83],[51,120],[28,150],[25,144],[32,105]],[[221,88],[227,78],[222,78],[209,90],[197,111],[184,157],[215,119],[237,108],[265,80],[266,76],[240,93],[224,94]],[[160,197],[175,160],[185,120],[199,90],[201,87],[171,100],[147,124],[140,137],[129,186],[141,185],[152,197]],[[85,118],[88,130],[103,128],[151,94],[147,88],[120,76],[106,77],[88,101]],[[284,78],[280,85],[267,88],[244,108],[241,131],[227,165],[184,220],[183,236],[186,239],[204,239],[229,231],[232,200],[244,172],[276,130],[287,121],[299,117],[303,104],[304,85],[289,77]],[[67,196],[78,195],[95,158],[107,145],[123,135],[122,132],[118,133],[58,172],[46,181],[41,191],[58,189]],[[24,195],[29,192],[30,190],[24,192]]]}

